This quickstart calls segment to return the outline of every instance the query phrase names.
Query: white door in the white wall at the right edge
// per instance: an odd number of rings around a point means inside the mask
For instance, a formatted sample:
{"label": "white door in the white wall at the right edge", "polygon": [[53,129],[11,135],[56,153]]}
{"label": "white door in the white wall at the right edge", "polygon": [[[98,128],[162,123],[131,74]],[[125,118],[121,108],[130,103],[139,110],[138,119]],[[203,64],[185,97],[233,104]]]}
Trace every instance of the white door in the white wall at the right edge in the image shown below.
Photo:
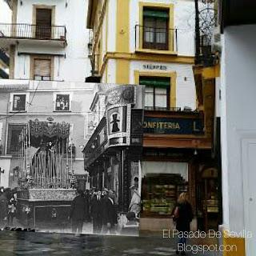
{"label": "white door in the white wall at the right edge", "polygon": [[242,140],[243,192],[246,232],[253,238],[246,238],[246,256],[256,251],[256,139]]}

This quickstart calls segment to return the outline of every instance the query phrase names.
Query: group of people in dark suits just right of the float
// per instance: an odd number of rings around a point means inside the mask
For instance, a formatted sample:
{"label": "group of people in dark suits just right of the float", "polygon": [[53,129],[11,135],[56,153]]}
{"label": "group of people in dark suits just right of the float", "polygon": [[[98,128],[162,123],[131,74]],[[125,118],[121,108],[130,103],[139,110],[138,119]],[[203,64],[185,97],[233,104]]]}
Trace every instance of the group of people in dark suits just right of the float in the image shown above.
{"label": "group of people in dark suits just right of the float", "polygon": [[[69,219],[72,222],[72,233],[81,234],[84,222],[92,222],[94,234],[117,234],[118,213],[113,190],[92,189],[78,190],[71,204]],[[127,222],[121,234],[131,234],[138,227],[136,214],[126,214]]]}

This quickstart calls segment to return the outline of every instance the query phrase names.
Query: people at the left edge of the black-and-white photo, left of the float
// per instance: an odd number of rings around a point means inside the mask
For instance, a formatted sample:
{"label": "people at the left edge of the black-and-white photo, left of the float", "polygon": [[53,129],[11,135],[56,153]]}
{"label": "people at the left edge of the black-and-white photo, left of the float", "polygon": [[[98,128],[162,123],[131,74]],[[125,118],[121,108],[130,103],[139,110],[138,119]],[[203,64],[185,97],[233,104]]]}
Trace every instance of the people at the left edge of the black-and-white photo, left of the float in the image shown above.
{"label": "people at the left edge of the black-and-white photo, left of the float", "polygon": [[17,191],[0,187],[0,229],[14,225],[17,212]]}

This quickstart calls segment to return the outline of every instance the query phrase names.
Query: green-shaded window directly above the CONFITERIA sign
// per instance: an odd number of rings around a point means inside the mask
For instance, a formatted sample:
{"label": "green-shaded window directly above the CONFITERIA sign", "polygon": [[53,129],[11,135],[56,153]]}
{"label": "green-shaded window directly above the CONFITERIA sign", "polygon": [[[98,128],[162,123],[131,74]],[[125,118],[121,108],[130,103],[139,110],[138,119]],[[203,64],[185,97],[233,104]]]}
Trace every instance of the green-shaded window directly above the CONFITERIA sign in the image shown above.
{"label": "green-shaded window directly above the CONFITERIA sign", "polygon": [[140,76],[139,84],[146,86],[146,109],[164,110],[170,106],[170,78]]}

